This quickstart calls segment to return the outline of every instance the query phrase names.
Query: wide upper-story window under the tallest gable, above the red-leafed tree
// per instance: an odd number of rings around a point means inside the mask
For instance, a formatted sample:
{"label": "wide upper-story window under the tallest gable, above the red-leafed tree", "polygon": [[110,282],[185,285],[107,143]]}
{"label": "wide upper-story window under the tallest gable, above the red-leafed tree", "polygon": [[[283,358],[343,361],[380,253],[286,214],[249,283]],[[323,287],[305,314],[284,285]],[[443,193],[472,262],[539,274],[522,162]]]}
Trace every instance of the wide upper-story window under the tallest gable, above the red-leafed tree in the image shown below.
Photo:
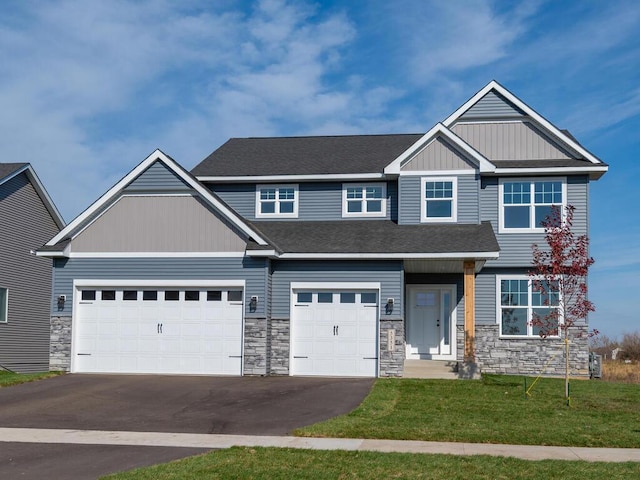
{"label": "wide upper-story window under the tallest gable, above the red-leafed tree", "polygon": [[566,182],[563,179],[501,180],[500,231],[537,232],[553,207],[566,204]]}

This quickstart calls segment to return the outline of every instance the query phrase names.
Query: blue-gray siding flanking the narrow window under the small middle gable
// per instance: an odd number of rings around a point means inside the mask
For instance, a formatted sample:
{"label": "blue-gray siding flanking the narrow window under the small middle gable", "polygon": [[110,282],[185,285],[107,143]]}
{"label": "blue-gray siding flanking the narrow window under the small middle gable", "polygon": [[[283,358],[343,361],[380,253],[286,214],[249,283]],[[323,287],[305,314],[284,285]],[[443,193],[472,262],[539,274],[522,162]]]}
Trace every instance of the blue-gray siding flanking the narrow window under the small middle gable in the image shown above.
{"label": "blue-gray siding flanking the narrow window under the small middle gable", "polygon": [[[432,177],[437,178],[437,177]],[[420,222],[423,201],[422,177],[402,175],[400,184],[400,205],[398,223],[401,225],[416,225]],[[480,180],[476,173],[458,175],[458,216],[457,223],[479,223],[479,186]]]}

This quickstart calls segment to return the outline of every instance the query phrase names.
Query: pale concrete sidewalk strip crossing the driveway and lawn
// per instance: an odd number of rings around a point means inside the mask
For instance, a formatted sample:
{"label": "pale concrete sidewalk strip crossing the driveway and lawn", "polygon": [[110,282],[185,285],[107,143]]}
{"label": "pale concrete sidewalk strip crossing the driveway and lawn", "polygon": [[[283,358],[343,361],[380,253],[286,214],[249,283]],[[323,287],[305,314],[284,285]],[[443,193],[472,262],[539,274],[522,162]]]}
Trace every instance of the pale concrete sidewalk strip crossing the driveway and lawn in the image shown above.
{"label": "pale concrete sidewalk strip crossing the driveway and lawn", "polygon": [[285,447],[316,450],[369,450],[377,452],[493,455],[524,460],[583,460],[588,462],[640,462],[638,448],[546,447],[485,443],[422,442],[194,433],[119,432],[35,428],[0,428],[0,442],[191,447],[205,449]]}

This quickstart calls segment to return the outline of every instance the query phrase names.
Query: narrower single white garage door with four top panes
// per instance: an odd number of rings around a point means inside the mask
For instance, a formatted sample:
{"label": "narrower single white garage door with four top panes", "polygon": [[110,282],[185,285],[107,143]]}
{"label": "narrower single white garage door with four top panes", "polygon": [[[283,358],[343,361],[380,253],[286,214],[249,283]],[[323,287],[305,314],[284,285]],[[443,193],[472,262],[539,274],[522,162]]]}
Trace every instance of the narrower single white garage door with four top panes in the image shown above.
{"label": "narrower single white garage door with four top panes", "polygon": [[377,375],[377,291],[297,289],[292,300],[292,375]]}

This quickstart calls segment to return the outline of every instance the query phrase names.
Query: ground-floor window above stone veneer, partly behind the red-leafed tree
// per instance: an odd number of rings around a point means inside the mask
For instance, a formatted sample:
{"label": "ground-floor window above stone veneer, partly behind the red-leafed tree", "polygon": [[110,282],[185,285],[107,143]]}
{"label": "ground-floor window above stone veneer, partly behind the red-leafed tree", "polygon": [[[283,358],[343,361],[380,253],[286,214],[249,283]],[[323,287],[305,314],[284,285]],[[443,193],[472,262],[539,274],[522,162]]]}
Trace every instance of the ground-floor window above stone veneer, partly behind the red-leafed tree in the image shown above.
{"label": "ground-floor window above stone veneer, partly behind the red-leafed tree", "polygon": [[[560,294],[557,285],[542,282],[542,289],[527,277],[498,277],[498,322],[500,335],[506,337],[540,337],[541,327],[534,319],[544,321],[548,336],[557,336],[558,304]],[[556,330],[553,332],[552,330]]]}

